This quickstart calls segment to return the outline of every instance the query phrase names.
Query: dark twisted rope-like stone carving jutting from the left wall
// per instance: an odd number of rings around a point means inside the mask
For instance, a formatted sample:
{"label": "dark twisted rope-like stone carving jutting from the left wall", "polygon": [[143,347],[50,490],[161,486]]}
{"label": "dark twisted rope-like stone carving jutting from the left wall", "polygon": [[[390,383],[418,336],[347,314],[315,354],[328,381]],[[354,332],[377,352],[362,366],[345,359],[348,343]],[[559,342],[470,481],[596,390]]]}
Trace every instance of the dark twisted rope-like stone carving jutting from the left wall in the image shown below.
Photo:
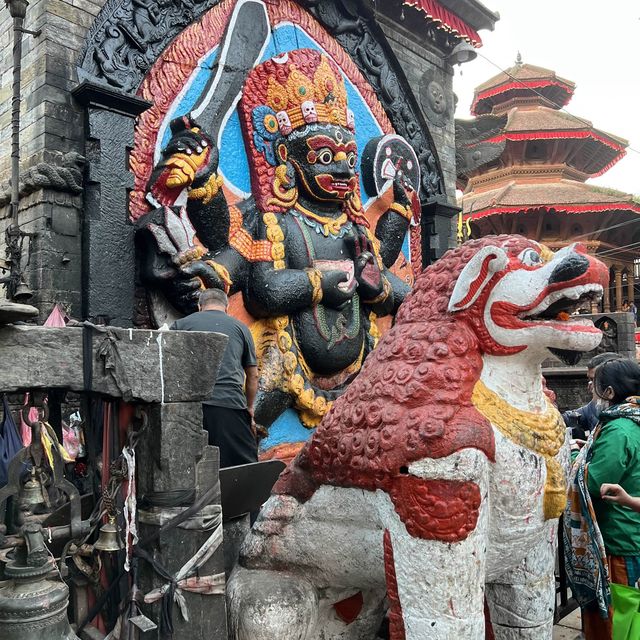
{"label": "dark twisted rope-like stone carving jutting from the left wall", "polygon": [[[20,197],[53,189],[67,193],[82,193],[82,171],[85,158],[75,151],[60,154],[59,163],[39,162],[20,175]],[[11,200],[11,184],[0,185],[0,207]]]}

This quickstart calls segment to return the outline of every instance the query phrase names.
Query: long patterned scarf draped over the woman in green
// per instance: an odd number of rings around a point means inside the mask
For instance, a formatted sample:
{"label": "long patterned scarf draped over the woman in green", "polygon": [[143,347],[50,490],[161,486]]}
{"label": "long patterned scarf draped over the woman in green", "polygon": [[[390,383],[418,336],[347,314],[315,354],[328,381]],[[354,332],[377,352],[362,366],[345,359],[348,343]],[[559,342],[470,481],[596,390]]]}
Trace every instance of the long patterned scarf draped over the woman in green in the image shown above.
{"label": "long patterned scarf draped over the woman in green", "polygon": [[611,603],[609,571],[587,478],[593,443],[603,427],[616,418],[628,418],[640,425],[640,397],[627,398],[625,403],[609,407],[600,414],[600,422],[575,459],[569,474],[563,521],[565,565],[573,595],[581,607],[596,602],[603,618],[608,617]]}

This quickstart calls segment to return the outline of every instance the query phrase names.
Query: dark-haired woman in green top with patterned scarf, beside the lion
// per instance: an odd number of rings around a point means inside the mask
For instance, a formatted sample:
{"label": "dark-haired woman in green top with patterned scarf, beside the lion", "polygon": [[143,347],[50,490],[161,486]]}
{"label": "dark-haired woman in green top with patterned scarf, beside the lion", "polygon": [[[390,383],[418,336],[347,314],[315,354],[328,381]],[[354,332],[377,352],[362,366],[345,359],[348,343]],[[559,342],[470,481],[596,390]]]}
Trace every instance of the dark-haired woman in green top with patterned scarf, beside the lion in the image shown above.
{"label": "dark-haired woman in green top with patterned scarf, beside the lion", "polygon": [[599,422],[571,470],[564,536],[585,638],[611,640],[609,584],[634,587],[640,579],[640,513],[603,498],[601,487],[616,484],[640,495],[640,366],[605,362],[593,389]]}

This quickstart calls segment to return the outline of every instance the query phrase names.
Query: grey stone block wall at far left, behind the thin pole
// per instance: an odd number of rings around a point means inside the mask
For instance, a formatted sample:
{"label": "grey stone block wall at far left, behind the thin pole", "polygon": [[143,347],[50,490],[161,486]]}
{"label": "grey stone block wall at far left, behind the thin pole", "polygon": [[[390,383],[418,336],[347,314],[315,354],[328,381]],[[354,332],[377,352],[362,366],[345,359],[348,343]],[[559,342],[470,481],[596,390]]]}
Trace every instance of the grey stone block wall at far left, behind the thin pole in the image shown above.
{"label": "grey stone block wall at far left, behind the thin pole", "polygon": [[[84,110],[71,97],[86,33],[104,0],[32,0],[23,35],[20,121],[20,227],[31,303],[47,314],[60,302],[80,315]],[[0,10],[0,257],[11,223],[12,20]],[[72,155],[66,155],[71,152]],[[73,155],[75,154],[75,155]],[[63,169],[63,171],[60,171]],[[71,169],[67,174],[64,169]],[[24,173],[28,171],[28,175]],[[66,178],[66,180],[65,180]],[[39,188],[44,185],[44,188]]]}

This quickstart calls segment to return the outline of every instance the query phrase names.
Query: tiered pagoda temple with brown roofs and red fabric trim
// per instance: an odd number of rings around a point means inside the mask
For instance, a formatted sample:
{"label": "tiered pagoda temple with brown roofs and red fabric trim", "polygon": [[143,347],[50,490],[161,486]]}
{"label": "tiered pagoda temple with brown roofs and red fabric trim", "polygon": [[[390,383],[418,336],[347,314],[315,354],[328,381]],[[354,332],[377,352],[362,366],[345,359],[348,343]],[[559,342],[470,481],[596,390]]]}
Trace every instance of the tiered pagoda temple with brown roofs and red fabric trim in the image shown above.
{"label": "tiered pagoda temple with brown roofs and red fabric trim", "polygon": [[473,120],[456,121],[459,239],[519,233],[553,250],[575,241],[611,270],[601,309],[634,300],[640,202],[586,184],[625,155],[628,142],[566,113],[575,84],[523,64],[474,93]]}

